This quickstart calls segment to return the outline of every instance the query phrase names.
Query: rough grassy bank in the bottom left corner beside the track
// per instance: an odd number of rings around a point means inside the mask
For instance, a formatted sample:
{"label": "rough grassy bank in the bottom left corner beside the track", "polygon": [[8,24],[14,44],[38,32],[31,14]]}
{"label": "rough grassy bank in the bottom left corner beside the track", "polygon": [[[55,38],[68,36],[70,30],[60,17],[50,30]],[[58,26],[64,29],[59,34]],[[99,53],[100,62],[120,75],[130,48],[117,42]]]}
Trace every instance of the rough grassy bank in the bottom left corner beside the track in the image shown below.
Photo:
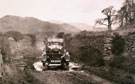
{"label": "rough grassy bank in the bottom left corner beside the track", "polygon": [[4,65],[4,70],[5,73],[0,79],[0,84],[43,84],[31,72],[22,72],[14,64]]}

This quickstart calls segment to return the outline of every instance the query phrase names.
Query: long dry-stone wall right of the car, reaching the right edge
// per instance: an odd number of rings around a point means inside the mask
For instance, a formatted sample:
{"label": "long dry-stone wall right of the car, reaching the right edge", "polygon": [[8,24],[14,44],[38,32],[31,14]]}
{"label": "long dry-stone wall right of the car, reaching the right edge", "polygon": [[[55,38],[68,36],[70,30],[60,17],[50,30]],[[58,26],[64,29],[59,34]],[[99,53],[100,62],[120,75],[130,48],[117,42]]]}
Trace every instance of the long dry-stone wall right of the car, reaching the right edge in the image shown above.
{"label": "long dry-stone wall right of the car, reaching the right edge", "polygon": [[[98,49],[103,56],[104,60],[110,60],[115,54],[112,52],[113,47],[113,38],[115,34],[119,34],[120,37],[124,39],[124,52],[122,54],[127,56],[135,57],[135,33],[124,33],[120,34],[119,32],[107,33],[81,33],[74,36],[69,45],[69,51],[74,53],[73,55],[80,55],[80,52],[83,52],[85,48],[95,48]],[[118,46],[119,47],[119,46]],[[82,51],[79,49],[82,48]],[[116,49],[117,50],[117,49]]]}

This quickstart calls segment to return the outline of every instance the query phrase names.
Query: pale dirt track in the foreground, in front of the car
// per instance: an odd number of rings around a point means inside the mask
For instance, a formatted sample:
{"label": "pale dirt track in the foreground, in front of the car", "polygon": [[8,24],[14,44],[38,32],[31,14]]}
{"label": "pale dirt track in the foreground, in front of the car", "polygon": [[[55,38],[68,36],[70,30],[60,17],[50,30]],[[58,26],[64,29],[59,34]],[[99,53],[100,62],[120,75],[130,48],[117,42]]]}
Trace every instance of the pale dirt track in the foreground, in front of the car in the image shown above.
{"label": "pale dirt track in the foreground, in front of the car", "polygon": [[81,71],[30,71],[43,84],[113,84]]}

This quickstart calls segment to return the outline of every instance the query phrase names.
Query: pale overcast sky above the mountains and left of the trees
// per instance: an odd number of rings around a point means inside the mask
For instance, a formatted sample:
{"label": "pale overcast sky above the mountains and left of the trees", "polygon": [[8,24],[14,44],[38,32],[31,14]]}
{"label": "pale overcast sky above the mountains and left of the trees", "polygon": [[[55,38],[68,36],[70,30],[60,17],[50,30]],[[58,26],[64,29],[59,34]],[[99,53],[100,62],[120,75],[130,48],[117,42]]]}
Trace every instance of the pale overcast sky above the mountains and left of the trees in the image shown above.
{"label": "pale overcast sky above the mountains and left of the trees", "polygon": [[102,17],[101,10],[112,5],[115,9],[124,0],[0,0],[0,17],[17,15],[62,22],[81,22],[90,25]]}

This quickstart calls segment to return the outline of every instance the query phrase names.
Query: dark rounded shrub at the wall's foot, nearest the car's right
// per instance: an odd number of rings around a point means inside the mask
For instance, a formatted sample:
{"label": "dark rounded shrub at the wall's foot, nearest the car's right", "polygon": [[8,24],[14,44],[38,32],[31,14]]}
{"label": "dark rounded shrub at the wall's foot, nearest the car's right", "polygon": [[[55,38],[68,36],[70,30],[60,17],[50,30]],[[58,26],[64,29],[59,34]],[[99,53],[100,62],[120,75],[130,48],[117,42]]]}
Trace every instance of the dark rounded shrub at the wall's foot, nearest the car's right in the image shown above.
{"label": "dark rounded shrub at the wall's foot, nearest the car's right", "polygon": [[103,65],[103,58],[102,53],[93,47],[83,47],[80,49],[81,56],[79,57],[80,60],[85,63],[86,65],[90,66],[102,66]]}

